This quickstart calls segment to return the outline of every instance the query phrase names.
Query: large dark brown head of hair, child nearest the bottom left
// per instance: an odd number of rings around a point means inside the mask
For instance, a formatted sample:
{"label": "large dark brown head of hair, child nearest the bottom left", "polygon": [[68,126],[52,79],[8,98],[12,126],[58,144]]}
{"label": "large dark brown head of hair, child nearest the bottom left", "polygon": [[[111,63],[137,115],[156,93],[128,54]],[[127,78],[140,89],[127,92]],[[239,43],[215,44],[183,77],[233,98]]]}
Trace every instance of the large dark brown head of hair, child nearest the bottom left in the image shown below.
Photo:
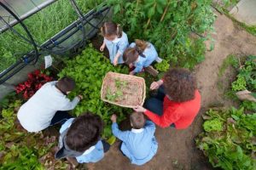
{"label": "large dark brown head of hair, child nearest the bottom left", "polygon": [[76,151],[84,152],[101,139],[102,119],[100,116],[85,113],[78,116],[67,130],[66,144]]}

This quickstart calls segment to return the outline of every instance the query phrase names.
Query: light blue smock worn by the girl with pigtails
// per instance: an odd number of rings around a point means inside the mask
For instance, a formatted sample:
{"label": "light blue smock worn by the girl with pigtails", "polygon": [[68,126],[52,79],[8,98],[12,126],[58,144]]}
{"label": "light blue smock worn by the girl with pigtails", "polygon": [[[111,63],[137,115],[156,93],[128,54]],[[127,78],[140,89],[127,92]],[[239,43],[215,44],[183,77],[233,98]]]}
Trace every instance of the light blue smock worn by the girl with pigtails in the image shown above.
{"label": "light blue smock worn by the girl with pigtails", "polygon": [[109,59],[111,63],[113,64],[113,59],[115,55],[119,52],[121,54],[119,56],[118,64],[123,64],[123,54],[125,52],[125,49],[129,47],[128,37],[125,34],[125,32],[122,32],[122,37],[117,38],[115,41],[108,41],[106,38],[104,38],[104,42],[106,43],[106,46],[108,48],[109,52]]}

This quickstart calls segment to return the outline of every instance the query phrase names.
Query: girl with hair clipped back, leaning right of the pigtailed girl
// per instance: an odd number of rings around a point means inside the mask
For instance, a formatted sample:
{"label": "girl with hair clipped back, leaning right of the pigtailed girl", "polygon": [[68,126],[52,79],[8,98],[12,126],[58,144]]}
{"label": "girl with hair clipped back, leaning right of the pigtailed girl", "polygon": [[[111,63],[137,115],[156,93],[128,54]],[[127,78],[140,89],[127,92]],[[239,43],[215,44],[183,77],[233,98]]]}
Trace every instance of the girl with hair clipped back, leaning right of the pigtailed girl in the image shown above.
{"label": "girl with hair clipped back, leaning right of the pigtailed girl", "polygon": [[143,71],[143,68],[151,65],[154,60],[161,61],[152,43],[138,39],[125,49],[123,59],[130,68],[135,67],[130,75]]}

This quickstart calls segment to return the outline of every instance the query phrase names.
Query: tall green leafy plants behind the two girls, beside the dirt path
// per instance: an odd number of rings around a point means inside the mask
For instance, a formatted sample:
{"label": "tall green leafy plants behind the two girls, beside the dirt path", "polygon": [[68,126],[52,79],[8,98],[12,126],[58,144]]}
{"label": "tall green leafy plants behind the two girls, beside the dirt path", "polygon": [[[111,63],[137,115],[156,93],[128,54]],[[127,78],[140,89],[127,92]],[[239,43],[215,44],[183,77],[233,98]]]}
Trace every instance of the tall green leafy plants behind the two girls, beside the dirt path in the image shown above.
{"label": "tall green leafy plants behind the two girls, beside the dirt path", "polygon": [[207,31],[212,30],[215,20],[211,3],[211,0],[108,1],[113,6],[113,20],[124,27],[130,40],[152,42],[172,66],[189,69],[204,59],[204,41],[209,38]]}

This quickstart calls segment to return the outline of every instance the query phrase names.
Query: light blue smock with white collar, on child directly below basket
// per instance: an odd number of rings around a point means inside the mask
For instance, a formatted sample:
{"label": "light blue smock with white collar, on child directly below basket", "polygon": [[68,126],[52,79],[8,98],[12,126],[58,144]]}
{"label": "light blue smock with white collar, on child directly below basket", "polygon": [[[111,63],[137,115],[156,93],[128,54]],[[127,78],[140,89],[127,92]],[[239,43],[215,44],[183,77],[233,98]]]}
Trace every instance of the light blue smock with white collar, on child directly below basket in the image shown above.
{"label": "light blue smock with white collar, on child directly below basket", "polygon": [[143,165],[156,154],[158,143],[154,138],[155,125],[147,121],[144,128],[120,131],[118,124],[112,124],[113,135],[122,140],[121,150],[132,164]]}

